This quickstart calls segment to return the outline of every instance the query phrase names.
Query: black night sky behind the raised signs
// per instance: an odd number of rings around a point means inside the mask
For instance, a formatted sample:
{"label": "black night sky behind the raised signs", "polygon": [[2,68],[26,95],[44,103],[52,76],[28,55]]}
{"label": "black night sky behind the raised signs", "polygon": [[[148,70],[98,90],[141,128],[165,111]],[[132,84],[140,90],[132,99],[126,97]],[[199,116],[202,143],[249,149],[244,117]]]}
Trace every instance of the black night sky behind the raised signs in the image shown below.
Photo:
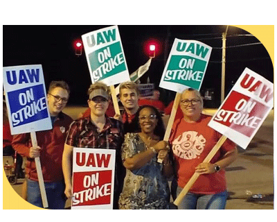
{"label": "black night sky behind the raised signs", "polygon": [[[91,84],[87,60],[75,55],[73,42],[81,35],[106,26],[3,26],[3,67],[41,64],[46,89],[51,80],[66,80],[71,87],[69,105],[86,105],[87,89]],[[222,33],[226,26],[118,26],[129,74],[148,61],[144,47],[148,40],[159,42],[159,56],[152,60],[150,69],[141,78],[157,89],[171,46],[176,38],[197,40],[213,47],[201,91],[212,89],[213,105],[220,105],[222,72]],[[247,31],[229,26],[226,40],[226,94],[231,83],[238,80],[248,67],[273,83],[274,70],[267,50]],[[247,45],[246,44],[252,44]],[[242,46],[244,45],[244,46]],[[161,100],[167,105],[175,92],[160,89]]]}

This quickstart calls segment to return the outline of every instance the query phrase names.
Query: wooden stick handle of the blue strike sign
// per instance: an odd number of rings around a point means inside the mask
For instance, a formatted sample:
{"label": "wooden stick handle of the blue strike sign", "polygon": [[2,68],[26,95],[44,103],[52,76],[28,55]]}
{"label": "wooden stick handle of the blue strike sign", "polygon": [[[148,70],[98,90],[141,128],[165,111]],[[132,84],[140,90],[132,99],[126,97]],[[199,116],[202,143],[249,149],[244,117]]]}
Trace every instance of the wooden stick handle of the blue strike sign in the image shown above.
{"label": "wooden stick handle of the blue strike sign", "polygon": [[[35,132],[30,132],[30,139],[32,140],[32,146],[37,147],[37,136],[35,135]],[[39,179],[39,189],[40,194],[42,195],[42,205],[44,208],[48,207],[48,201],[46,196],[46,191],[44,187],[44,179],[42,176],[42,166],[40,164],[39,157],[35,157],[35,167],[37,169],[37,178]]]}

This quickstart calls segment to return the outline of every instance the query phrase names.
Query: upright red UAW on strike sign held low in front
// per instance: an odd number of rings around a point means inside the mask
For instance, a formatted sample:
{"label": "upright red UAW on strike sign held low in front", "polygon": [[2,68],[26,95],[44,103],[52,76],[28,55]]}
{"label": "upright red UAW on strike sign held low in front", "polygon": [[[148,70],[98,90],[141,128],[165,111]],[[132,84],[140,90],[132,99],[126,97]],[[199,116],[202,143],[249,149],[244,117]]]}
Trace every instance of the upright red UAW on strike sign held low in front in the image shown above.
{"label": "upright red UAW on strike sign held low in front", "polygon": [[73,148],[71,209],[111,210],[116,151]]}

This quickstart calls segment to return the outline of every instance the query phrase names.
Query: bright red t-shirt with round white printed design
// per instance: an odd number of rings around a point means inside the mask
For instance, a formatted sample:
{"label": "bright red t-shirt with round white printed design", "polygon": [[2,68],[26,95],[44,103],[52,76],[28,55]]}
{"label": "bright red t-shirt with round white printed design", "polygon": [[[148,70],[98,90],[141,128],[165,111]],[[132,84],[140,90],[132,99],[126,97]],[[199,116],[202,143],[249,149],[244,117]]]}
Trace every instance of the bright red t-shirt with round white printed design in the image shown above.
{"label": "bright red t-shirt with round white printed design", "polygon": [[[196,123],[178,119],[172,126],[170,144],[177,163],[179,187],[184,187],[195,173],[195,167],[204,161],[221,134],[208,126],[211,116],[202,114]],[[211,163],[220,160],[223,155],[235,148],[229,139],[215,154]],[[226,190],[225,171],[200,175],[190,191],[195,194],[217,194]]]}

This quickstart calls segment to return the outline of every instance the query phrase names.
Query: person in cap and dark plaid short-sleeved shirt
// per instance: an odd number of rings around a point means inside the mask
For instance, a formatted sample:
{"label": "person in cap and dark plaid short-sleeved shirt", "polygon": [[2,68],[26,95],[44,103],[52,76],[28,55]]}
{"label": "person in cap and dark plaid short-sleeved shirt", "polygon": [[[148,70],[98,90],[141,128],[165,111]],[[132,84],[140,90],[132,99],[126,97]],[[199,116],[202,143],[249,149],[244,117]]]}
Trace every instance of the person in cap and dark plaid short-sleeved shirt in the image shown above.
{"label": "person in cap and dark plaid short-sleeved shirt", "polygon": [[124,172],[124,167],[120,156],[120,148],[124,140],[123,123],[105,115],[111,98],[107,85],[104,83],[92,84],[89,87],[88,95],[89,99],[87,103],[91,110],[90,116],[77,119],[71,123],[64,144],[62,158],[64,181],[66,184],[64,194],[66,194],[67,198],[73,196],[71,170],[73,147],[115,149],[114,209],[118,209],[118,198],[124,180],[124,176],[121,175]]}

